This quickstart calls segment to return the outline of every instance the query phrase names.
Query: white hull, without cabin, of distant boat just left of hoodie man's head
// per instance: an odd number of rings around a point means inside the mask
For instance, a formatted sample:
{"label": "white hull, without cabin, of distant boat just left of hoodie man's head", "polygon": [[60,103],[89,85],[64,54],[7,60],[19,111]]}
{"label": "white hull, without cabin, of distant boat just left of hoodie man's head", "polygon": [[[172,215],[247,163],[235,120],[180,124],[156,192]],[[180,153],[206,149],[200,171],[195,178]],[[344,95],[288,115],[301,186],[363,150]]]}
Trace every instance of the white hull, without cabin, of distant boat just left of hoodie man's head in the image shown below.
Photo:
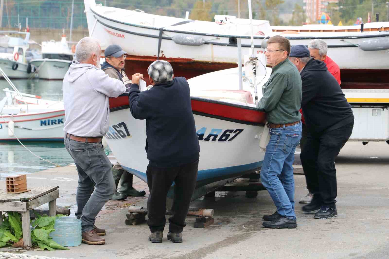
{"label": "white hull, without cabin, of distant boat just left of hoodie man's head", "polygon": [[[63,79],[72,61],[62,59],[33,59],[31,64],[38,70],[41,79]],[[43,65],[42,65],[43,64]]]}

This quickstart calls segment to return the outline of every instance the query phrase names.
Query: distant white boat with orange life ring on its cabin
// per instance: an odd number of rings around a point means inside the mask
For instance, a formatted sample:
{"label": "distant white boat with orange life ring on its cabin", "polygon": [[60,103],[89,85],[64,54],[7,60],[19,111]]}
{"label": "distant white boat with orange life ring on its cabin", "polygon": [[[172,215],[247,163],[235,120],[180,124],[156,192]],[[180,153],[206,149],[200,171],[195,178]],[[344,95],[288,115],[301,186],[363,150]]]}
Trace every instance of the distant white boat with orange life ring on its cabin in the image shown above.
{"label": "distant white boat with orange life ring on its cabin", "polygon": [[[32,66],[26,62],[26,51],[29,48],[29,32],[0,31],[0,67],[10,78],[26,79],[30,77]],[[25,39],[9,35],[24,34]]]}

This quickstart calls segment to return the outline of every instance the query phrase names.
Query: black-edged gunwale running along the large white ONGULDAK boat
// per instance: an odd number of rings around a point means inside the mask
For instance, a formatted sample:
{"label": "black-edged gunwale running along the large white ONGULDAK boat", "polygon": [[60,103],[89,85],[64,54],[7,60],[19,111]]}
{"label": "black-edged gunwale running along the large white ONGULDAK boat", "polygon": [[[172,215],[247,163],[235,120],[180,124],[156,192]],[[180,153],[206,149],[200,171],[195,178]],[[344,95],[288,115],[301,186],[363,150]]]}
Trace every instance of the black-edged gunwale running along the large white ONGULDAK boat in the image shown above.
{"label": "black-edged gunwale running along the large white ONGULDAK boat", "polygon": [[[98,12],[96,12],[95,10],[92,9],[92,7],[89,7],[89,9],[91,10],[91,12],[93,12],[94,14],[96,14],[97,16],[101,17],[102,19],[106,19],[108,21],[112,21],[114,23],[120,23],[120,24],[123,24],[123,25],[128,25],[128,26],[133,26],[133,27],[138,27],[138,28],[145,28],[145,29],[150,29],[150,30],[160,30],[162,28],[162,30],[164,32],[176,32],[176,33],[184,33],[184,34],[191,34],[191,35],[201,35],[201,36],[213,36],[213,37],[223,37],[223,38],[239,38],[239,39],[250,39],[251,36],[244,36],[244,35],[224,35],[224,34],[212,34],[212,33],[200,33],[200,32],[186,32],[186,31],[179,31],[179,30],[171,30],[171,29],[165,29],[165,27],[161,27],[161,28],[158,28],[158,27],[152,27],[152,26],[145,26],[145,25],[137,25],[137,24],[133,24],[133,23],[126,23],[126,22],[122,22],[122,21],[118,21],[118,20],[115,20],[115,19],[112,19],[112,18],[108,18],[108,17],[105,17],[105,16],[102,16],[102,14],[98,14]],[[101,21],[99,21],[99,19],[97,19],[95,17],[95,19],[107,26],[107,24],[104,24],[102,23]],[[169,27],[169,26],[166,26],[166,27]],[[116,29],[116,30],[119,30],[115,27],[109,27],[109,28],[112,28],[112,29]],[[128,31],[125,31],[125,30],[119,30],[119,31],[122,31],[122,32],[128,32]],[[152,37],[152,38],[159,38],[157,35],[149,35],[147,36],[147,34],[144,34],[144,33],[133,33],[133,32],[128,32],[128,33],[132,33],[132,34],[137,34],[137,35],[140,35],[140,36],[145,36],[145,37]],[[321,33],[321,32],[320,32]],[[378,32],[378,33],[384,33],[384,32]],[[265,37],[267,36],[254,36],[254,39],[265,39]],[[376,35],[361,35],[361,36],[358,36],[358,35],[350,35],[350,36],[332,36],[332,37],[315,37],[315,36],[308,36],[308,37],[292,37],[292,36],[284,36],[285,38],[289,39],[289,40],[310,40],[310,39],[365,39],[365,38],[378,38],[378,37],[389,37],[389,33],[385,33],[384,35],[382,34],[376,34]],[[170,39],[170,37],[162,37],[162,39]],[[205,44],[214,44],[214,43],[211,43],[211,42],[205,42]],[[217,44],[214,44],[214,45],[217,45]],[[224,44],[223,44],[224,45]],[[236,45],[233,45],[231,44],[231,46],[236,46]],[[336,45],[334,45],[336,46]],[[242,47],[244,47],[242,45]],[[329,47],[329,46],[328,46]],[[350,44],[350,47],[356,47],[352,44]]]}

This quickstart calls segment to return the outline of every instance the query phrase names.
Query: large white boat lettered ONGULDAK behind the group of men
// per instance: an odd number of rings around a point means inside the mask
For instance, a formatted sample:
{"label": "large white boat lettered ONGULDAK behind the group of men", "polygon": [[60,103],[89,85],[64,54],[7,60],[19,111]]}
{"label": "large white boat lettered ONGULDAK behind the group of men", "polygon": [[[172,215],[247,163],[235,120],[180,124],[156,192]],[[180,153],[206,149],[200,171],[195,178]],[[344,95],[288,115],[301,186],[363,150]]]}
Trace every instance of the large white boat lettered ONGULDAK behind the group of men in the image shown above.
{"label": "large white boat lettered ONGULDAK behind the group of men", "polygon": [[[156,58],[169,61],[177,76],[186,78],[216,70],[236,67],[238,41],[242,53],[249,53],[249,19],[215,16],[215,22],[195,21],[147,14],[96,5],[84,0],[89,35],[102,41],[102,49],[118,44],[128,53],[126,68],[145,73]],[[281,34],[291,45],[308,45],[312,39],[328,44],[328,56],[341,68],[342,84],[364,80],[376,82],[389,74],[389,22],[360,26],[272,27],[269,21],[253,20],[256,53],[264,53],[265,38]],[[336,28],[335,28],[336,27]],[[289,30],[287,30],[289,29]],[[134,43],[142,42],[137,44]],[[377,62],[380,60],[380,62]],[[366,79],[367,78],[367,79]],[[366,81],[367,80],[367,81]],[[389,82],[385,77],[385,82]]]}

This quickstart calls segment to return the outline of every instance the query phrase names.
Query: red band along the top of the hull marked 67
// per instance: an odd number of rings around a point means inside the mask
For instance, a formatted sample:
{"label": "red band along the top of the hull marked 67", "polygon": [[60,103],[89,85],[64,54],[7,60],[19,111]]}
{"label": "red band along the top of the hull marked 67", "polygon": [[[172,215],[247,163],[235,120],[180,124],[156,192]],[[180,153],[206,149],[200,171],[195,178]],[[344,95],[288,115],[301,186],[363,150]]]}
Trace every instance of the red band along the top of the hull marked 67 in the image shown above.
{"label": "red band along the top of the hull marked 67", "polygon": [[[230,106],[228,104],[213,103],[208,101],[191,100],[192,110],[204,114],[246,121],[252,123],[265,123],[266,113],[258,110]],[[128,97],[119,96],[118,98],[109,98],[109,107],[117,108],[128,106]]]}

